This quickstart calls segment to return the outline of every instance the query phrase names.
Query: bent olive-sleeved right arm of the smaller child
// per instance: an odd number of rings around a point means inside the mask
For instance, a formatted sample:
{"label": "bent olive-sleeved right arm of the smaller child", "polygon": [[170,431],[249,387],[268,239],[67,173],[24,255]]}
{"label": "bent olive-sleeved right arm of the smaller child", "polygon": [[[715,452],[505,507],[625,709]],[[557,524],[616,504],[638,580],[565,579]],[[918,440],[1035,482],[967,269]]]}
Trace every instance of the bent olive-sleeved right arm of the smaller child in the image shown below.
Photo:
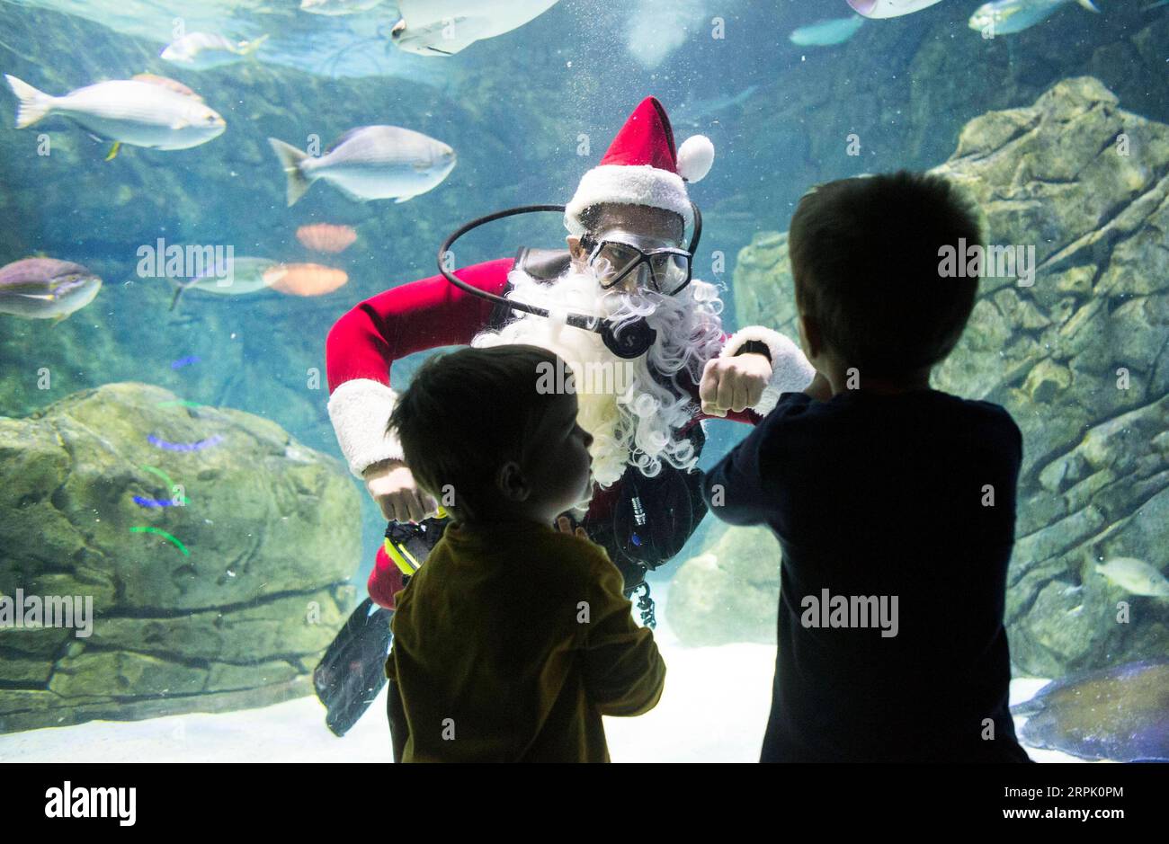
{"label": "bent olive-sleeved right arm of the smaller child", "polygon": [[[603,553],[603,552],[602,552]],[[639,715],[657,706],[665,662],[653,634],[637,627],[621,572],[604,554],[595,566],[584,627],[584,684],[604,715]]]}

